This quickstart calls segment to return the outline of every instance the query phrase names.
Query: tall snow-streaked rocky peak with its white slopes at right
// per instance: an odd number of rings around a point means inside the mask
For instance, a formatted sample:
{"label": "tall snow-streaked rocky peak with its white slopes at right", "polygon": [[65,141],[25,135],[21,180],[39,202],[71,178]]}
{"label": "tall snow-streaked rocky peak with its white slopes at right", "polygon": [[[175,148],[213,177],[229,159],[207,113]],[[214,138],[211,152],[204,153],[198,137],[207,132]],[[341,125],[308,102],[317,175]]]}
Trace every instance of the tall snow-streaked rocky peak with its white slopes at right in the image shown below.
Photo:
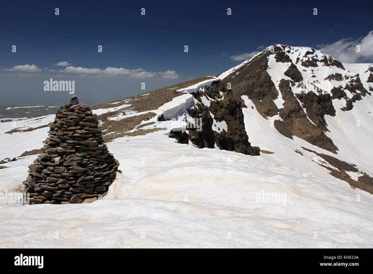
{"label": "tall snow-streaked rocky peak with its white slopes at right", "polygon": [[271,158],[373,193],[373,64],[275,44],[222,73],[246,108],[249,140]]}

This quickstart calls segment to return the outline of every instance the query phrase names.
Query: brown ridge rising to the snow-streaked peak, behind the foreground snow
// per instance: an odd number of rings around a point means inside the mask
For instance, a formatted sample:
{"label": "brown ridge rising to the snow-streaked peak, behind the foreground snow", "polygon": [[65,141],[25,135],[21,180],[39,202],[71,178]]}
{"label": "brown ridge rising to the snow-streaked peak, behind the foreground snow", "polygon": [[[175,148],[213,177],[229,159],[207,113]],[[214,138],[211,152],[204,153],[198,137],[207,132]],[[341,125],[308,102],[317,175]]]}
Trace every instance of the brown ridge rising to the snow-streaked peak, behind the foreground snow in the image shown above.
{"label": "brown ridge rising to the snow-streaked peak, behind the foreground snow", "polygon": [[[216,77],[92,109],[106,142],[160,132],[198,148],[260,154],[373,193],[372,67],[274,44]],[[48,119],[21,121],[6,135],[45,130]]]}

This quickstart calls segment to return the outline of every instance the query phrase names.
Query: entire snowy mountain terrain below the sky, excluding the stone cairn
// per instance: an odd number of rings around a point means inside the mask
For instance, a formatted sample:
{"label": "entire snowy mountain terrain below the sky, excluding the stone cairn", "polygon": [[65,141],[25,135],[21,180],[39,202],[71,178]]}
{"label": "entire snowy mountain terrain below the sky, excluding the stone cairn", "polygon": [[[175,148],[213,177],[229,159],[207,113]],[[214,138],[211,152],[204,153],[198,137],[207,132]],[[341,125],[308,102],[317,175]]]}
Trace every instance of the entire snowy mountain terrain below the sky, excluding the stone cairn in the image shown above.
{"label": "entire snowy mountain terrain below the sky, excluding the stone cairn", "polygon": [[[0,246],[372,248],[372,73],[275,44],[94,106],[123,173],[90,204],[2,199]],[[53,119],[0,124],[0,159],[18,159],[1,193],[23,191]]]}

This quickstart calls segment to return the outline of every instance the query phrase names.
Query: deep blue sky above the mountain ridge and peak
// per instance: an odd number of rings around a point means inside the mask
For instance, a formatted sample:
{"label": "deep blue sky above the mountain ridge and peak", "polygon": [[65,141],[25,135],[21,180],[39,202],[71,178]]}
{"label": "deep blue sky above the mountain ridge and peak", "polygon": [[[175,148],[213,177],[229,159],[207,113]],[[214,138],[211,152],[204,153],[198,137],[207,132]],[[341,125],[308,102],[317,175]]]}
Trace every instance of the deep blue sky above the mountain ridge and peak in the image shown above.
{"label": "deep blue sky above the mountain ridge and peak", "polygon": [[[84,103],[104,103],[217,75],[274,43],[322,49],[342,62],[373,62],[372,1],[301,2],[4,2],[0,104],[67,103],[68,92],[43,90],[50,78],[75,81]],[[360,43],[366,48],[356,56],[352,48]]]}

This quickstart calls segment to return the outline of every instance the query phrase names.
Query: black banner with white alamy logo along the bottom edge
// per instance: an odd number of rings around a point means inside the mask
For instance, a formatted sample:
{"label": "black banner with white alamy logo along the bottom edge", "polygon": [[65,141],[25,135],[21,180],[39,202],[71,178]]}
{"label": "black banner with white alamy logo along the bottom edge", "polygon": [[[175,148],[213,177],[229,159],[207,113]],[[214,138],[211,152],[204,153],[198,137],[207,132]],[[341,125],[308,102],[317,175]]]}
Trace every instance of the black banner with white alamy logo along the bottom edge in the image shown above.
{"label": "black banner with white alamy logo along the bottom edge", "polygon": [[[357,270],[370,266],[370,249],[215,249],[167,250],[148,249],[3,249],[1,265],[19,270],[61,270],[65,267],[87,267],[108,270],[131,264],[140,268],[179,265],[189,268],[220,268],[232,264],[264,267],[268,270]],[[200,253],[201,252],[201,253]],[[91,265],[90,265],[91,264]],[[78,268],[78,269],[79,269]]]}

